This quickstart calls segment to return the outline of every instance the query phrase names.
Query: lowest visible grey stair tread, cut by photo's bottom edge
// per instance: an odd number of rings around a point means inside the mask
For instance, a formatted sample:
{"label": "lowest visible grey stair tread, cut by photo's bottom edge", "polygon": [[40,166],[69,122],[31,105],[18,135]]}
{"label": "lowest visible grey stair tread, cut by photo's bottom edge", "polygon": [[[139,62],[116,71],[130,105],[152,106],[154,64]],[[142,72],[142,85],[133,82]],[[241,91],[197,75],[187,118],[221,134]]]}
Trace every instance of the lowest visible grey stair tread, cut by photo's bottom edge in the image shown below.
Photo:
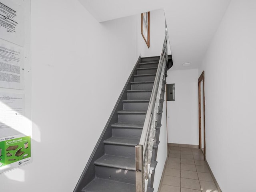
{"label": "lowest visible grey stair tread, cut by photo's bottom edge", "polygon": [[[135,192],[135,185],[101,178],[94,178],[82,192]],[[147,192],[153,192],[148,188]]]}

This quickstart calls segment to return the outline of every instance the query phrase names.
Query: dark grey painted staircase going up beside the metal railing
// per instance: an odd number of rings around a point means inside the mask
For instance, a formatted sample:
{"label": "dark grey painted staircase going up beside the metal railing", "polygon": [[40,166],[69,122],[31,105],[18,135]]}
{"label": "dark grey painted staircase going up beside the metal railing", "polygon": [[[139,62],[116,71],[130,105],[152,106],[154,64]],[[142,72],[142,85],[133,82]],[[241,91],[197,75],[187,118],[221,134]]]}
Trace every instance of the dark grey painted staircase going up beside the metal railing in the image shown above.
{"label": "dark grey painted staircase going up beside the metal railing", "polygon": [[[74,192],[135,192],[135,146],[139,144],[159,62],[139,58]],[[164,94],[164,86],[162,94]],[[159,120],[162,116],[162,102]],[[153,192],[161,121],[158,122],[148,192]]]}

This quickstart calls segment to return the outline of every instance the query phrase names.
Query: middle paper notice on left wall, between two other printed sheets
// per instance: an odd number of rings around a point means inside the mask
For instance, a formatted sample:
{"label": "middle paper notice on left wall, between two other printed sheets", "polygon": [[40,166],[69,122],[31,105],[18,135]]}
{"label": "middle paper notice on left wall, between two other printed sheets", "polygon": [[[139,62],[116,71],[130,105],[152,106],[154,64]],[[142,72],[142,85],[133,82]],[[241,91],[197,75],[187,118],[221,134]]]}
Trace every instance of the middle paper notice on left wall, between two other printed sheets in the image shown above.
{"label": "middle paper notice on left wall, between two other printed sheets", "polygon": [[23,48],[0,39],[0,87],[24,89]]}

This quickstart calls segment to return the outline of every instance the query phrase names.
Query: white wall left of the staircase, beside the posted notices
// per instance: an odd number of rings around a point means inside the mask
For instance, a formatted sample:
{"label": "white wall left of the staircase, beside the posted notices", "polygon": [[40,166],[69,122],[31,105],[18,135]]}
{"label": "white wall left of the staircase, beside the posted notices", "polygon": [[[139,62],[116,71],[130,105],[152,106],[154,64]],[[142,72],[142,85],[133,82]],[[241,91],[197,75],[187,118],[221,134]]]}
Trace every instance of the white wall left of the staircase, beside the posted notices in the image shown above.
{"label": "white wall left of the staircase, beside the posted notices", "polygon": [[100,24],[78,0],[37,0],[31,26],[40,138],[32,164],[0,175],[0,191],[71,192],[138,59],[137,18]]}

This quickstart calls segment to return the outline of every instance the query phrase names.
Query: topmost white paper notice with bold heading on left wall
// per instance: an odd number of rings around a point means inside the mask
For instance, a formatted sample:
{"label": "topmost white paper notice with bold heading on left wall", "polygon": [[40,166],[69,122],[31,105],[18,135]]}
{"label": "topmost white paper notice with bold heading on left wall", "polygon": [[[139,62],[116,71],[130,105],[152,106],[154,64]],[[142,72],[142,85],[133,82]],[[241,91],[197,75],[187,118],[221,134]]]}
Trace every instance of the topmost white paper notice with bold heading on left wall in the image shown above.
{"label": "topmost white paper notice with bold heading on left wall", "polygon": [[0,38],[24,46],[24,12],[10,0],[0,0]]}

